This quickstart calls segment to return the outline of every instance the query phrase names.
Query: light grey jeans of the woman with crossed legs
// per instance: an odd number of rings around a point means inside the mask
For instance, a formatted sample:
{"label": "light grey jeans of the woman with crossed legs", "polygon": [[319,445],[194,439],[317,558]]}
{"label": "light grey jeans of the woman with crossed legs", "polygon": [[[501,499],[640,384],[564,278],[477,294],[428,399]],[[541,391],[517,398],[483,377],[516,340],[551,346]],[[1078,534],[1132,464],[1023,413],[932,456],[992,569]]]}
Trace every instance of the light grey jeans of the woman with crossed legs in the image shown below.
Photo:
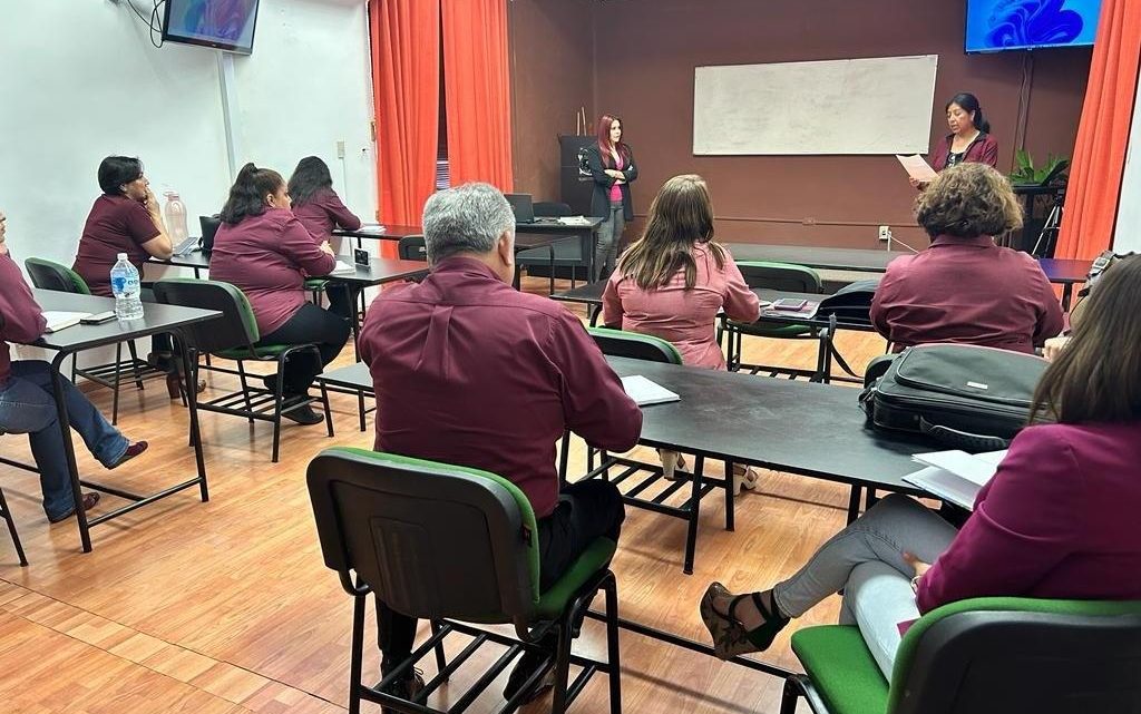
{"label": "light grey jeans of the woman with crossed legs", "polygon": [[899,624],[920,617],[911,583],[915,570],[904,553],[934,562],[956,533],[923,504],[892,494],[832,536],[803,568],[772,589],[772,597],[782,612],[800,617],[842,590],[840,623],[859,626],[890,681]]}

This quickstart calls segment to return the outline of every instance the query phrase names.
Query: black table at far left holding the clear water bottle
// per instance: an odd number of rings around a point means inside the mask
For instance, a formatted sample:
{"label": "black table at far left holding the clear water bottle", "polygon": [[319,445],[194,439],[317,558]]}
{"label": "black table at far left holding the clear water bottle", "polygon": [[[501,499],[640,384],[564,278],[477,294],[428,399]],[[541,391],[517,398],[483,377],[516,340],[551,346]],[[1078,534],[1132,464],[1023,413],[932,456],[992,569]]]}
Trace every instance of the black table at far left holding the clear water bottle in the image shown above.
{"label": "black table at far left holding the clear water bottle", "polygon": [[[95,295],[78,295],[74,293],[56,292],[50,290],[34,290],[35,301],[44,310],[64,310],[72,313],[105,313],[115,309],[113,298],[98,298]],[[217,310],[200,310],[196,308],[184,308],[170,305],[156,305],[147,302],[143,306],[143,317],[120,323],[118,321],[104,323],[102,325],[74,325],[59,332],[42,335],[34,342],[33,347],[42,347],[56,350],[57,355],[51,360],[51,387],[56,399],[56,411],[59,414],[59,427],[64,438],[64,454],[67,460],[67,470],[71,473],[72,495],[75,498],[75,518],[79,521],[80,541],[83,544],[83,552],[91,551],[90,527],[118,518],[123,513],[129,513],[135,509],[165,498],[191,486],[197,486],[202,501],[209,501],[210,494],[207,488],[205,463],[202,459],[202,438],[199,433],[197,393],[191,388],[186,389],[186,401],[191,413],[191,445],[194,447],[194,459],[197,466],[197,476],[176,486],[165,488],[151,495],[139,495],[126,492],[112,486],[104,486],[82,481],[79,478],[79,469],[75,465],[75,449],[72,445],[71,425],[67,417],[67,404],[63,396],[64,376],[59,372],[59,365],[68,355],[74,355],[83,350],[108,344],[118,344],[127,340],[135,340],[160,332],[178,333],[181,327],[203,323],[221,316]],[[179,341],[181,342],[181,341]],[[183,350],[183,374],[193,374],[186,352]],[[94,488],[113,496],[119,496],[130,501],[128,505],[104,513],[90,521],[83,511],[83,494],[81,486]]]}

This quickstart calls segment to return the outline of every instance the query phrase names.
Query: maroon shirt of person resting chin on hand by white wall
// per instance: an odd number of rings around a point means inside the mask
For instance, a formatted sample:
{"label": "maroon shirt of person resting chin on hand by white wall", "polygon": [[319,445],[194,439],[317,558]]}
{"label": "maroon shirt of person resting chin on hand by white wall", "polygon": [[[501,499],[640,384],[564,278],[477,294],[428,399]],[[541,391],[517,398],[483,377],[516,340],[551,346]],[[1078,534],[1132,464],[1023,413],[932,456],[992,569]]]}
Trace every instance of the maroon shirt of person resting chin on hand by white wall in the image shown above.
{"label": "maroon shirt of person resting chin on hand by white wall", "polygon": [[148,255],[143,244],[159,235],[146,206],[138,201],[127,196],[99,196],[83,226],[72,270],[87,281],[94,294],[111,298],[111,268],[119,253],[127,253],[127,260],[141,277]]}

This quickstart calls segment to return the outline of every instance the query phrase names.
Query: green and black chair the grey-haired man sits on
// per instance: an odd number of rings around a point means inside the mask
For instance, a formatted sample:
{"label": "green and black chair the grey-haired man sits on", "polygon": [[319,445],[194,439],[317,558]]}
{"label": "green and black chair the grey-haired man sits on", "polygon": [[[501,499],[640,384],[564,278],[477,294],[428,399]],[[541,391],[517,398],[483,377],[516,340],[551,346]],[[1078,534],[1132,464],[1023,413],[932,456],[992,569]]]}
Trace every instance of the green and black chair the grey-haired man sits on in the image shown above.
{"label": "green and black chair the grey-haired man sits on", "polygon": [[[361,701],[404,714],[443,714],[428,697],[474,655],[493,642],[507,648],[467,692],[448,691],[452,712],[463,712],[525,650],[548,634],[558,639],[552,712],[563,714],[591,676],[609,679],[610,713],[622,711],[617,585],[609,570],[616,544],[591,543],[551,587],[539,586],[539,529],[527,497],[493,473],[353,448],[331,448],[309,463],[309,497],[325,566],[353,595],[349,713]],[[576,624],[590,600],[606,593],[607,662],[572,654]],[[389,608],[432,623],[432,636],[375,685],[364,682],[364,617],[367,595]],[[516,638],[477,625],[510,624]],[[451,633],[474,640],[448,662]],[[371,638],[369,639],[371,640]],[[437,673],[413,700],[386,689],[429,652]],[[582,667],[574,681],[570,665]],[[539,674],[501,709],[511,712]],[[375,681],[370,678],[370,681]]]}

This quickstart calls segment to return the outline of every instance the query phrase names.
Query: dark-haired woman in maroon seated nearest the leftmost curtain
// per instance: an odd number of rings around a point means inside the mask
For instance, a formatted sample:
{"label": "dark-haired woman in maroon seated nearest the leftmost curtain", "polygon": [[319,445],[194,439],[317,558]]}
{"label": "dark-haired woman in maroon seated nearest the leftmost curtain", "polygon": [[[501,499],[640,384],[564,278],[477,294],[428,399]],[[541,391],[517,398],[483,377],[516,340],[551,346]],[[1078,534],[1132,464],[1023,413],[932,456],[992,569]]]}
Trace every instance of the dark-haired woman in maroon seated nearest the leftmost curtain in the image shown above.
{"label": "dark-haired woman in maroon seated nearest the leftmost curtain", "polygon": [[[293,216],[318,244],[327,242],[334,253],[341,252],[341,238],[333,235],[333,228],[356,230],[361,227],[361,219],[333,190],[329,165],[318,156],[306,156],[297,164],[289,179],[289,196],[293,202]],[[348,319],[353,316],[351,301],[361,294],[361,289],[339,283],[327,285],[325,294],[329,295],[329,309]]]}

